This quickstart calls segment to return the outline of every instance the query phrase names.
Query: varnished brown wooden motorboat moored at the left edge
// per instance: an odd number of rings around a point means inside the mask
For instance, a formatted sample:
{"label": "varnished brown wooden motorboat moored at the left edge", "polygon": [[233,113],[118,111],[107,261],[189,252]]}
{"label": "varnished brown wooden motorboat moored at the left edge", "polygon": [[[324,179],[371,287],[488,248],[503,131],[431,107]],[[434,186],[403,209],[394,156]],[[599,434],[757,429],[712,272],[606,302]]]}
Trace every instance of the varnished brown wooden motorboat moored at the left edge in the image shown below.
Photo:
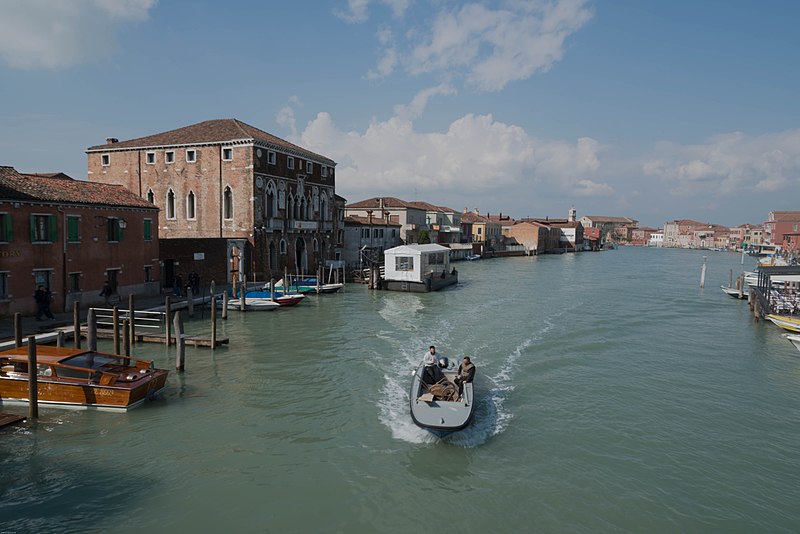
{"label": "varnished brown wooden motorboat moored at the left edge", "polygon": [[[129,410],[158,394],[169,371],[152,361],[40,345],[36,350],[38,402],[42,405]],[[0,404],[28,403],[28,347],[0,352]]]}

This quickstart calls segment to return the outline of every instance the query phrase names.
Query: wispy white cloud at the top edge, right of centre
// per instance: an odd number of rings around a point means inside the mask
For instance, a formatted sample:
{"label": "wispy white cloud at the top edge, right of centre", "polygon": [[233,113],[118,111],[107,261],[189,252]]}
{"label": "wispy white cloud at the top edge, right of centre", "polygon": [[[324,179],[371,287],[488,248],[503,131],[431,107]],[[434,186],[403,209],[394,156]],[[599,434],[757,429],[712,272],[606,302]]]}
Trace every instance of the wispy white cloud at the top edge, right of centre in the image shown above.
{"label": "wispy white cloud at the top edge, right of centre", "polygon": [[[592,14],[584,0],[513,1],[502,9],[470,3],[441,10],[430,27],[403,32],[405,46],[392,47],[406,71],[461,76],[480,91],[500,91],[513,81],[546,71],[564,54],[567,37]],[[379,44],[386,42],[379,34]],[[393,72],[381,68],[386,54],[368,77]],[[384,74],[385,73],[385,74]]]}

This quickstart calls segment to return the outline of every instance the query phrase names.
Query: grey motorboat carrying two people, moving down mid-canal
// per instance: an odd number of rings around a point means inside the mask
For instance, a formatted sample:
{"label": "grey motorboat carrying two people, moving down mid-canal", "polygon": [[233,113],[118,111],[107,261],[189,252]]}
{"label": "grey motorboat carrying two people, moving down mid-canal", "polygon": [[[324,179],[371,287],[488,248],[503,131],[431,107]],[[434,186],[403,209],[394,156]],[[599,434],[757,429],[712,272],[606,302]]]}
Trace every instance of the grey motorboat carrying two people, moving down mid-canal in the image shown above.
{"label": "grey motorboat carrying two people, moving down mid-canal", "polygon": [[[411,404],[411,419],[420,428],[424,428],[437,436],[445,436],[466,428],[472,421],[475,412],[472,382],[464,384],[464,391],[457,400],[442,400],[435,396],[428,386],[422,382],[422,370],[425,364],[420,363],[414,371],[411,380],[409,401]],[[455,388],[455,369],[443,369],[446,386]]]}

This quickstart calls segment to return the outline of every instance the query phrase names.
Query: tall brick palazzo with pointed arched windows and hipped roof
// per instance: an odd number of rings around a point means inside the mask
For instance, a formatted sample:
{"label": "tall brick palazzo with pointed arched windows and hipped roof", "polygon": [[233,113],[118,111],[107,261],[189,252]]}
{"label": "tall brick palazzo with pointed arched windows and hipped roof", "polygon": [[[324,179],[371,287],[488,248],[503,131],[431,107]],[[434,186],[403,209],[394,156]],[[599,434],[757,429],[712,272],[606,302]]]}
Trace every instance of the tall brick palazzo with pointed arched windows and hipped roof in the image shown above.
{"label": "tall brick palazzo with pointed arched windows and hipped roof", "polygon": [[164,284],[268,280],[315,272],[343,235],[336,163],[236,119],[87,149],[89,180],[124,185],[161,208]]}

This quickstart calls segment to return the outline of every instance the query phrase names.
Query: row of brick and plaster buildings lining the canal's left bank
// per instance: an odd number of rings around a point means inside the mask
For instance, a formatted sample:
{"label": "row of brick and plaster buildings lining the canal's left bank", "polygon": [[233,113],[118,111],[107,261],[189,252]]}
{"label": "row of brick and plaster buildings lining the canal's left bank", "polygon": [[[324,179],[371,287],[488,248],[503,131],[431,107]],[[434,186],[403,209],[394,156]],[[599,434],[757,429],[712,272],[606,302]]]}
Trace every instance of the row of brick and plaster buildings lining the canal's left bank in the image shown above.
{"label": "row of brick and plaster buildings lining the canal's left bank", "polygon": [[87,148],[88,180],[0,167],[0,316],[157,294],[192,273],[206,286],[356,268],[404,243],[454,259],[597,248],[627,218],[525,218],[336,194],[336,162],[237,119]]}

